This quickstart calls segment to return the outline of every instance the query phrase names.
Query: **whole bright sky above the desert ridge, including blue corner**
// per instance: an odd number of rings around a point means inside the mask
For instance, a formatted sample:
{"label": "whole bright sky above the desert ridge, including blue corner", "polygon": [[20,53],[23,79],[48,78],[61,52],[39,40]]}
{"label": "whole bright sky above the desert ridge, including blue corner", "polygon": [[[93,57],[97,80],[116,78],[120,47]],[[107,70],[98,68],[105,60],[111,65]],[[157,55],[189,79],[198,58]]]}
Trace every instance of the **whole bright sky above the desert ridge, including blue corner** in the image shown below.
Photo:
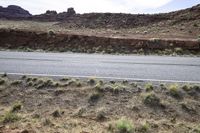
{"label": "whole bright sky above the desert ridge, including blue corner", "polygon": [[31,14],[46,10],[67,11],[74,7],[77,13],[163,13],[200,4],[200,0],[0,0],[0,5],[19,5]]}

